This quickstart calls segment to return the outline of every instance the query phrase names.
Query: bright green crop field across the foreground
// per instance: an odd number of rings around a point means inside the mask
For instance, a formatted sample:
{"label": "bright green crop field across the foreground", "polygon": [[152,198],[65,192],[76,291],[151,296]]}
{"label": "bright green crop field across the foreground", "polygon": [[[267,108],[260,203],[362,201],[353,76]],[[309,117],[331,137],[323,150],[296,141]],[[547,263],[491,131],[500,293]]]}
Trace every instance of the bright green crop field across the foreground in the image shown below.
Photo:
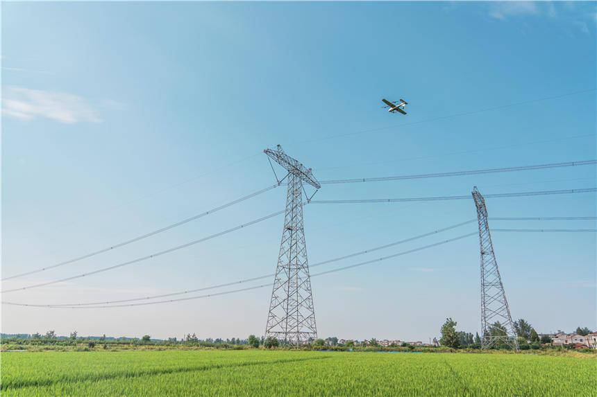
{"label": "bright green crop field across the foreground", "polygon": [[1,354],[2,396],[595,396],[594,358],[317,351]]}

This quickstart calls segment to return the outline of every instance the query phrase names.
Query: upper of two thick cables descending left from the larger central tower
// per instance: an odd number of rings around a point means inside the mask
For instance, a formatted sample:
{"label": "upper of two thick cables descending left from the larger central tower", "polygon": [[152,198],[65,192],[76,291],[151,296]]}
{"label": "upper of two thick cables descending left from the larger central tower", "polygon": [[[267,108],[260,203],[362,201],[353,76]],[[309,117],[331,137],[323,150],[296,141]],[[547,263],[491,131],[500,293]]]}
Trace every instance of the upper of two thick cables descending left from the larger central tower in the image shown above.
{"label": "upper of two thick cables descending left from the larger central tower", "polygon": [[[110,247],[102,248],[102,249],[99,249],[98,251],[90,252],[89,254],[85,254],[85,255],[82,255],[82,256],[78,256],[76,258],[69,259],[68,261],[63,261],[63,262],[60,262],[60,263],[56,263],[55,265],[50,265],[50,266],[42,267],[42,268],[37,269],[37,270],[31,270],[31,272],[24,272],[24,273],[21,273],[21,274],[15,274],[14,276],[4,277],[2,279],[2,281],[10,280],[10,279],[16,279],[17,277],[22,277],[22,276],[28,276],[29,274],[35,274],[35,273],[39,273],[39,272],[44,272],[45,270],[55,269],[56,267],[68,265],[69,263],[74,263],[74,262],[77,262],[77,261],[81,261],[83,259],[91,258],[92,256],[103,254],[104,252],[112,251],[112,249],[117,249],[117,248],[120,248],[120,247],[124,247],[125,245],[132,244],[133,242],[137,242],[137,241],[143,240],[144,238],[155,236],[156,234],[162,233],[163,231],[174,229],[175,227],[181,226],[181,225],[186,224],[188,222],[191,222],[193,220],[197,220],[199,218],[203,218],[206,215],[211,215],[212,213],[220,211],[221,209],[226,209],[229,206],[232,206],[234,204],[238,204],[239,202],[243,202],[244,200],[249,200],[250,198],[255,197],[256,195],[260,195],[260,194],[265,193],[267,191],[271,191],[271,189],[276,188],[277,186],[278,186],[277,184],[272,185],[272,186],[268,186],[267,188],[261,189],[260,191],[256,191],[256,192],[251,193],[249,195],[246,195],[244,197],[240,197],[237,200],[228,202],[228,203],[223,204],[221,206],[217,206],[214,209],[210,209],[209,211],[205,211],[203,213],[199,213],[197,215],[193,215],[190,218],[186,218],[186,219],[180,220],[178,222],[175,222],[173,224],[169,224],[168,226],[162,227],[161,229],[150,231],[149,233],[143,234],[141,236],[137,236],[135,238],[131,238],[131,240],[126,240],[124,242],[119,242],[118,244],[110,245]],[[5,292],[8,292],[8,291],[5,291]]]}

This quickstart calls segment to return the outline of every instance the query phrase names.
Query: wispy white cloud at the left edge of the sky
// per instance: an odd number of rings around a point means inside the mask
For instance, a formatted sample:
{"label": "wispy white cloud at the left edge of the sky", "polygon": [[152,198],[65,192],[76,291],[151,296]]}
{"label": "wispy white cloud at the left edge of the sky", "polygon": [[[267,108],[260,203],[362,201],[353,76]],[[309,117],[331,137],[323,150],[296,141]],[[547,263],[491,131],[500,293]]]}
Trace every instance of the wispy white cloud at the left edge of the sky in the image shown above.
{"label": "wispy white cloud at the left edge of the sky", "polygon": [[11,87],[2,98],[2,113],[20,120],[37,117],[60,123],[100,123],[101,118],[80,96],[56,91]]}

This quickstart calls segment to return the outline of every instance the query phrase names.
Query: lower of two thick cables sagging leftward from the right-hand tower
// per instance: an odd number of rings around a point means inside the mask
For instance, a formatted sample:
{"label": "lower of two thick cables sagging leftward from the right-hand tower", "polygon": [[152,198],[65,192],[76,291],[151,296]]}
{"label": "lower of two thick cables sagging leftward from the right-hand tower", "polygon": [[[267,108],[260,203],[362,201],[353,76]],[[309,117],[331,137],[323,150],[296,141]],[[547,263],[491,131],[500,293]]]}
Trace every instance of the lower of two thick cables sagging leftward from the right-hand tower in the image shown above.
{"label": "lower of two thick cables sagging leftward from the right-hand tower", "polygon": [[[386,261],[387,259],[390,259],[390,258],[396,258],[397,256],[411,254],[412,252],[419,252],[419,251],[422,251],[423,249],[429,249],[429,248],[432,248],[432,247],[437,247],[438,245],[447,244],[448,242],[453,242],[453,241],[456,241],[456,240],[461,240],[462,238],[466,238],[466,237],[469,237],[469,236],[475,236],[476,234],[477,233],[464,234],[462,236],[451,238],[449,240],[435,242],[435,243],[430,244],[430,245],[426,245],[426,246],[415,248],[415,249],[410,249],[410,250],[404,251],[404,252],[398,252],[397,254],[392,254],[392,255],[389,255],[389,256],[383,256],[381,258],[373,259],[371,261],[365,261],[365,262],[361,262],[361,263],[355,263],[354,265],[339,267],[339,268],[333,269],[333,270],[327,270],[326,272],[320,272],[320,273],[317,273],[317,274],[312,274],[311,276],[312,277],[323,276],[324,274],[330,274],[330,273],[335,273],[335,272],[342,272],[344,270],[352,269],[353,267],[360,267],[360,266],[364,266],[364,265],[371,265],[373,263],[378,263],[378,262],[381,262],[381,261]],[[274,283],[262,284],[262,285],[255,285],[253,287],[239,288],[237,290],[230,290],[230,291],[224,291],[224,292],[215,292],[213,294],[199,295],[199,296],[196,296],[196,297],[185,297],[185,298],[177,298],[177,299],[167,299],[167,300],[164,300],[164,301],[153,301],[153,302],[142,302],[142,303],[128,303],[128,304],[124,304],[124,305],[108,305],[108,306],[106,306],[106,305],[103,305],[103,306],[55,306],[55,305],[39,305],[39,304],[28,304],[28,303],[16,303],[16,302],[7,302],[7,301],[3,301],[2,304],[4,304],[4,305],[11,305],[11,306],[27,306],[27,307],[37,307],[37,308],[64,308],[64,309],[124,308],[124,307],[131,307],[131,306],[149,306],[149,305],[157,305],[157,304],[160,304],[160,303],[172,303],[172,302],[178,302],[178,301],[190,301],[190,300],[193,300],[193,299],[203,299],[203,298],[209,298],[209,297],[216,297],[216,296],[219,296],[219,295],[233,294],[235,292],[242,292],[242,291],[248,291],[248,290],[256,290],[258,288],[271,287],[271,285],[274,285]]]}

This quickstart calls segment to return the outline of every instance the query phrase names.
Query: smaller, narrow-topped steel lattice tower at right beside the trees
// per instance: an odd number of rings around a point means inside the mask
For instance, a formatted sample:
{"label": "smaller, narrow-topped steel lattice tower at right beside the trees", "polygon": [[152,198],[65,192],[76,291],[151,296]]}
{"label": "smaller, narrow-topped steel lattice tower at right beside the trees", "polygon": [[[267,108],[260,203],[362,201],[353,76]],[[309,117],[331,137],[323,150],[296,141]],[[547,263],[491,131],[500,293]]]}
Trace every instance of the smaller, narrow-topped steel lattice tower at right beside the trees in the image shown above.
{"label": "smaller, narrow-topped steel lattice tower at right beside the trees", "polygon": [[473,188],[473,200],[477,207],[481,248],[481,331],[483,333],[481,347],[489,349],[492,346],[505,344],[518,350],[519,344],[514,332],[510,308],[498,270],[494,245],[491,243],[487,206],[477,186]]}

